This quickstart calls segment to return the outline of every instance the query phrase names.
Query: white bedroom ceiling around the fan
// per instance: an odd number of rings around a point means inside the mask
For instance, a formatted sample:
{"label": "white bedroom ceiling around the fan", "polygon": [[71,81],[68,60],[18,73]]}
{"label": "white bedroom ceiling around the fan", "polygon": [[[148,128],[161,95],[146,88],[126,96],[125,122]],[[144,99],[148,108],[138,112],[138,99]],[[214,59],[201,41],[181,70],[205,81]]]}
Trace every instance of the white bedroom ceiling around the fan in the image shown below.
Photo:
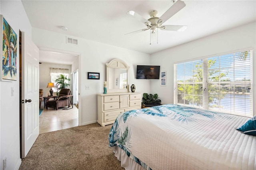
{"label": "white bedroom ceiling around the fan", "polygon": [[171,0],[22,0],[32,27],[149,54],[256,21],[256,0],[184,2],[186,6],[163,25],[185,25],[187,30],[158,30],[158,44],[150,45],[149,30],[124,35],[146,28],[126,12],[134,10],[149,19],[149,12],[157,10],[160,17]]}

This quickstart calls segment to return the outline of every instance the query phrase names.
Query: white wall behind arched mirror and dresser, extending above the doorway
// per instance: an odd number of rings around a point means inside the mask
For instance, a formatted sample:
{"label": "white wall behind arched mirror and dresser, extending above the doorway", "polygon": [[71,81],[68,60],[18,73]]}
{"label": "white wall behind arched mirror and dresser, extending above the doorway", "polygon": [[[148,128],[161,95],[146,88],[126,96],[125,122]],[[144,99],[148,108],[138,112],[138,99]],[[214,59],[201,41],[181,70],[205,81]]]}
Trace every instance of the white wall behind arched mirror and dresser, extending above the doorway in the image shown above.
{"label": "white wall behind arched mirror and dresser, extending above the doorway", "polygon": [[[114,58],[122,59],[130,66],[129,83],[130,85],[136,85],[136,91],[150,92],[150,81],[137,80],[135,77],[136,65],[150,64],[149,54],[84,39],[79,39],[79,45],[66,44],[66,35],[38,28],[32,28],[32,40],[38,47],[81,54],[79,63],[79,107],[82,107],[82,120],[80,120],[82,125],[97,121],[96,93],[103,93],[103,82],[106,81],[106,63]],[[74,71],[73,68],[72,71]],[[100,73],[100,80],[87,79],[87,72]],[[85,86],[89,86],[90,89],[86,90]]]}

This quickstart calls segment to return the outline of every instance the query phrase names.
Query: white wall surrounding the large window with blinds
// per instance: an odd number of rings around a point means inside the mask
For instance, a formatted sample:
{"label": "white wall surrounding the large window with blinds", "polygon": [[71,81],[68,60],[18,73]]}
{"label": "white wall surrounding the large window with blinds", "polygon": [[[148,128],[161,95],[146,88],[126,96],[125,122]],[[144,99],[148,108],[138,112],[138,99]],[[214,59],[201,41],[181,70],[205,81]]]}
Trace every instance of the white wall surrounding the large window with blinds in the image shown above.
{"label": "white wall surrounding the large window with blinds", "polygon": [[[201,38],[176,47],[165,49],[151,55],[151,64],[160,65],[167,71],[167,86],[160,86],[160,79],[151,84],[151,92],[158,93],[163,104],[173,103],[173,64],[178,61],[194,59],[214,54],[222,54],[239,49],[252,48],[253,73],[256,75],[256,22],[233,28],[212,36]],[[256,79],[253,79],[253,105],[256,106]],[[254,115],[256,108],[254,107]]]}

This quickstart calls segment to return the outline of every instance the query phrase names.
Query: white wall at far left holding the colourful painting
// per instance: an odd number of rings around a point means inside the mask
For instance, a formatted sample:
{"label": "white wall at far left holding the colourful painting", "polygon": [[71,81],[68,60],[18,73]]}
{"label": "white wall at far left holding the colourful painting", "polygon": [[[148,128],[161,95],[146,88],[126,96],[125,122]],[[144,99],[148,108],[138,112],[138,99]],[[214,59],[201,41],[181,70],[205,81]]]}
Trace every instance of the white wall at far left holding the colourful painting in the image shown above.
{"label": "white wall at far left holding the colourful painting", "polygon": [[[0,11],[14,32],[19,36],[19,30],[31,37],[31,25],[20,0],[0,1]],[[18,43],[19,44],[19,43]],[[2,47],[1,47],[2,48]],[[20,110],[19,110],[19,48],[17,49],[17,81],[0,81],[0,169],[3,169],[3,159],[7,157],[7,170],[18,169],[20,159]],[[14,96],[11,96],[14,87]]]}

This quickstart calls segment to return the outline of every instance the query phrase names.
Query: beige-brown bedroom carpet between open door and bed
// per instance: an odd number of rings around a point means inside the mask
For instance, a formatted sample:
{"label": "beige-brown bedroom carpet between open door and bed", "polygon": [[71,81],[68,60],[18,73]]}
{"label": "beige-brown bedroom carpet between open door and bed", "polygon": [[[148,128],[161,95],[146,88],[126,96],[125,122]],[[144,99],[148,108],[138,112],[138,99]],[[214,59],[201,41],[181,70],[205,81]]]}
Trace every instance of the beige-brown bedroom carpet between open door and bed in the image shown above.
{"label": "beige-brown bedroom carpet between open door and bed", "polygon": [[124,170],[108,148],[111,127],[93,123],[39,134],[20,170]]}

